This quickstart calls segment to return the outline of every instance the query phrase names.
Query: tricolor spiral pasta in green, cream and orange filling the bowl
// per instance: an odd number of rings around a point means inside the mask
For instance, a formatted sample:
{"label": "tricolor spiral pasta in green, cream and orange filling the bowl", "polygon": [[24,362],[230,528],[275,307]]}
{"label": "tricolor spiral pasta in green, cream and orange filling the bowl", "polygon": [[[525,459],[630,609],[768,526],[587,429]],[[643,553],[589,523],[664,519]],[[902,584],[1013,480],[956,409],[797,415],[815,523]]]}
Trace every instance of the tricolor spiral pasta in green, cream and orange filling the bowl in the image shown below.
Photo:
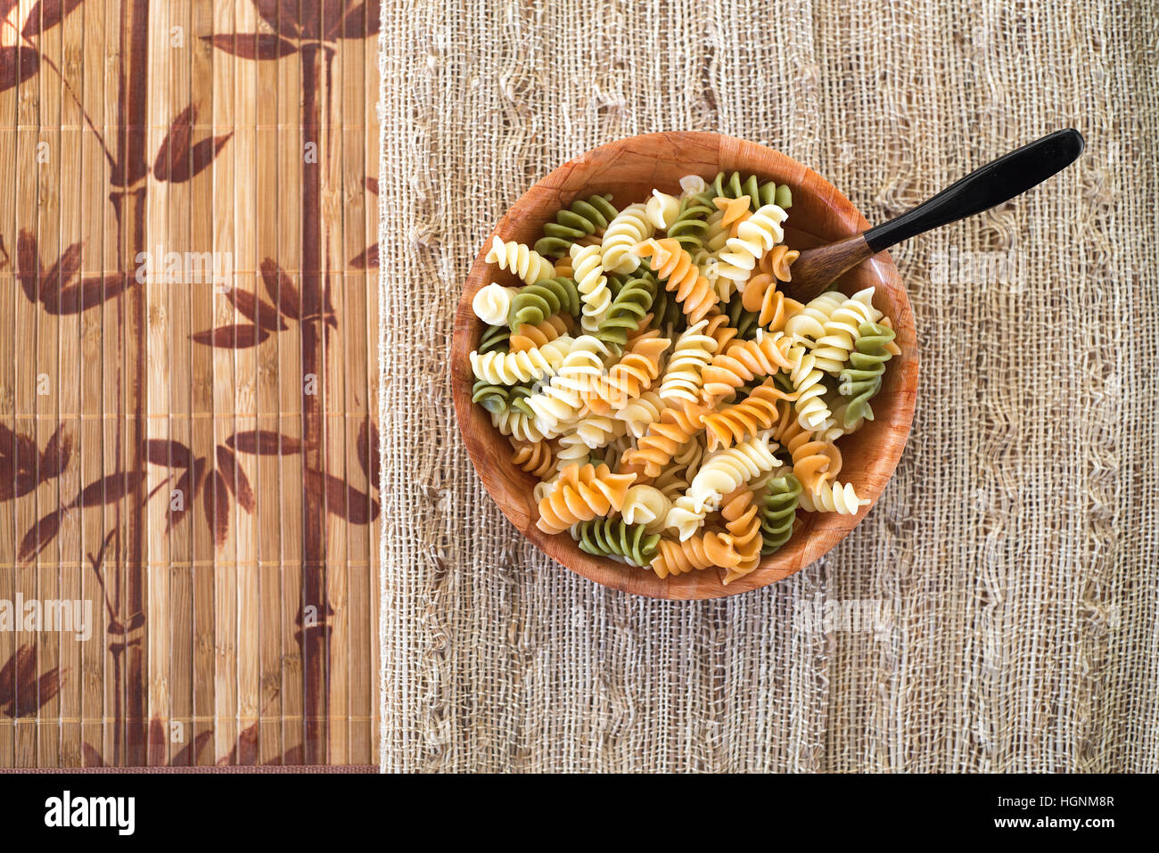
{"label": "tricolor spiral pasta in green, cream and orange filling the bowl", "polygon": [[687,175],[639,201],[576,198],[533,247],[490,240],[471,400],[510,442],[540,531],[727,585],[801,513],[868,503],[840,442],[873,420],[901,349],[872,287],[782,290],[792,201],[757,176]]}

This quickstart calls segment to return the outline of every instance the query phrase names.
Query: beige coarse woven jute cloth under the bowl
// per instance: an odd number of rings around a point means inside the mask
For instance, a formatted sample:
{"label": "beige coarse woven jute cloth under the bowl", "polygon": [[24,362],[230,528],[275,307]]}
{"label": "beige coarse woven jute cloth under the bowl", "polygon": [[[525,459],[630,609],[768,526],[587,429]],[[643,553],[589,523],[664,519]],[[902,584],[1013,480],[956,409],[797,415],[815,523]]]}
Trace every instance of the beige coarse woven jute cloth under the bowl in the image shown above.
{"label": "beige coarse woven jute cloth under the bowl", "polygon": [[[387,771],[1157,771],[1157,23],[1147,3],[385,5]],[[619,137],[783,151],[883,221],[1059,127],[1080,160],[892,255],[921,378],[866,520],[665,603],[524,542],[451,319],[503,211]]]}

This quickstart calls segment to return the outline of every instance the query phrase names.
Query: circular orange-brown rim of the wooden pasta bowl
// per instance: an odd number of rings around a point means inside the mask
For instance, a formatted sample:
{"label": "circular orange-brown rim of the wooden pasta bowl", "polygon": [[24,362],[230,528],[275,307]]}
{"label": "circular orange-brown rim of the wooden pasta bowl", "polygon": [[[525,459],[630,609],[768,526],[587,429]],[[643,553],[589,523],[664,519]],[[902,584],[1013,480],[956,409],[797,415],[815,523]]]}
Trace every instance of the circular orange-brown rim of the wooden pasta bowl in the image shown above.
{"label": "circular orange-brown rim of the wooden pasta bowl", "polygon": [[[890,363],[890,371],[897,374],[896,378],[889,379],[889,384],[892,386],[890,396],[894,398],[890,415],[888,420],[879,418],[873,422],[875,429],[884,425],[888,431],[883,442],[887,453],[870,461],[868,472],[872,472],[873,475],[863,491],[860,484],[858,488],[858,494],[868,497],[869,503],[861,506],[860,511],[852,516],[804,513],[808,520],[804,525],[796,527],[793,533],[794,539],[803,537],[803,541],[792,548],[786,546],[777,554],[764,557],[757,569],[728,586],[721,583],[720,571],[716,570],[695,571],[662,579],[647,568],[641,569],[611,559],[585,554],[580,551],[570,537],[563,533],[549,535],[540,531],[534,524],[537,513],[530,506],[509,500],[512,488],[517,493],[520,489],[520,481],[523,482],[522,488],[527,488],[526,483],[532,481],[531,475],[519,471],[510,461],[509,455],[500,460],[498,464],[495,462],[488,451],[488,439],[484,438],[484,433],[489,431],[498,435],[498,431],[491,425],[490,417],[482,407],[471,402],[471,386],[474,382],[474,374],[468,353],[475,349],[478,341],[475,329],[481,326],[481,321],[474,314],[472,300],[478,290],[490,280],[491,276],[487,275],[487,271],[495,267],[495,264],[486,262],[487,250],[496,234],[504,240],[513,239],[510,236],[515,229],[513,224],[526,219],[525,211],[540,204],[545,194],[552,194],[559,202],[559,206],[566,206],[574,198],[589,192],[590,190],[585,190],[583,185],[575,190],[563,189],[571,174],[576,169],[583,168],[585,162],[593,161],[603,154],[641,154],[649,150],[649,155],[655,156],[657,145],[671,148],[675,147],[673,140],[676,139],[684,145],[693,144],[713,150],[719,160],[727,156],[732,160],[761,162],[761,167],[736,168],[743,174],[751,172],[763,177],[773,175],[779,183],[789,183],[795,199],[801,191],[816,194],[817,201],[837,220],[834,225],[847,232],[840,236],[848,236],[869,227],[869,223],[860,211],[833,184],[787,154],[758,143],[708,131],[642,133],[613,140],[585,151],[537,181],[508,209],[487,236],[464,283],[455,309],[451,345],[451,379],[455,421],[467,445],[472,465],[503,515],[527,540],[560,564],[600,585],[650,598],[702,600],[760,589],[800,571],[828,554],[876,505],[882,491],[892,477],[912,428],[918,378],[918,350],[909,294],[890,255],[887,251],[879,253],[863,261],[854,270],[870,271],[874,278],[880,279],[881,284],[891,291],[892,299],[897,302],[891,320],[897,331],[898,344],[903,348],[903,357],[897,357]],[[690,172],[684,174],[700,173],[697,173],[695,167],[692,167]],[[712,178],[707,177],[706,180]],[[852,275],[852,272],[846,275]],[[506,437],[502,437],[502,440],[503,446],[510,446]],[[819,526],[816,516],[824,516],[824,522]]]}

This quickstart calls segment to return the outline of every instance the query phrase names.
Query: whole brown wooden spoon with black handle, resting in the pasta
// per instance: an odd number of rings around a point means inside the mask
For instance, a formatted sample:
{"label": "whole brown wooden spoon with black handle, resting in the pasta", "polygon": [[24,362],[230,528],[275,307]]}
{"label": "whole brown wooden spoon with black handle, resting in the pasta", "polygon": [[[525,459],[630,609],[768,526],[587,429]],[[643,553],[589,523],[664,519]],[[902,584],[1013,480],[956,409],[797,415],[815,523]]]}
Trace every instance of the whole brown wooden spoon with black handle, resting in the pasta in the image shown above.
{"label": "whole brown wooden spoon with black handle, resting in the pasta", "polygon": [[836,243],[806,249],[793,262],[785,292],[807,302],[833,280],[879,251],[958,219],[1008,202],[1062,172],[1083,153],[1083,134],[1059,130],[971,172],[902,216]]}

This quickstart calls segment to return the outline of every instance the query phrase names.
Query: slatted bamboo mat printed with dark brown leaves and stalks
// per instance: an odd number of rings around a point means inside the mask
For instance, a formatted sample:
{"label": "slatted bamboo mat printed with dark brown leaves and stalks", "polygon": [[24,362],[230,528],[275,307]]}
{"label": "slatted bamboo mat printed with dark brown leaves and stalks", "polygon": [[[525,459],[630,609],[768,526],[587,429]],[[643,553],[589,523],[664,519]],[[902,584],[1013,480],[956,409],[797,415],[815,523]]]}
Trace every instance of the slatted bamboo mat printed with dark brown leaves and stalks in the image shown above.
{"label": "slatted bamboo mat printed with dark brown leaves and stalks", "polygon": [[378,29],[0,0],[0,767],[377,763]]}

